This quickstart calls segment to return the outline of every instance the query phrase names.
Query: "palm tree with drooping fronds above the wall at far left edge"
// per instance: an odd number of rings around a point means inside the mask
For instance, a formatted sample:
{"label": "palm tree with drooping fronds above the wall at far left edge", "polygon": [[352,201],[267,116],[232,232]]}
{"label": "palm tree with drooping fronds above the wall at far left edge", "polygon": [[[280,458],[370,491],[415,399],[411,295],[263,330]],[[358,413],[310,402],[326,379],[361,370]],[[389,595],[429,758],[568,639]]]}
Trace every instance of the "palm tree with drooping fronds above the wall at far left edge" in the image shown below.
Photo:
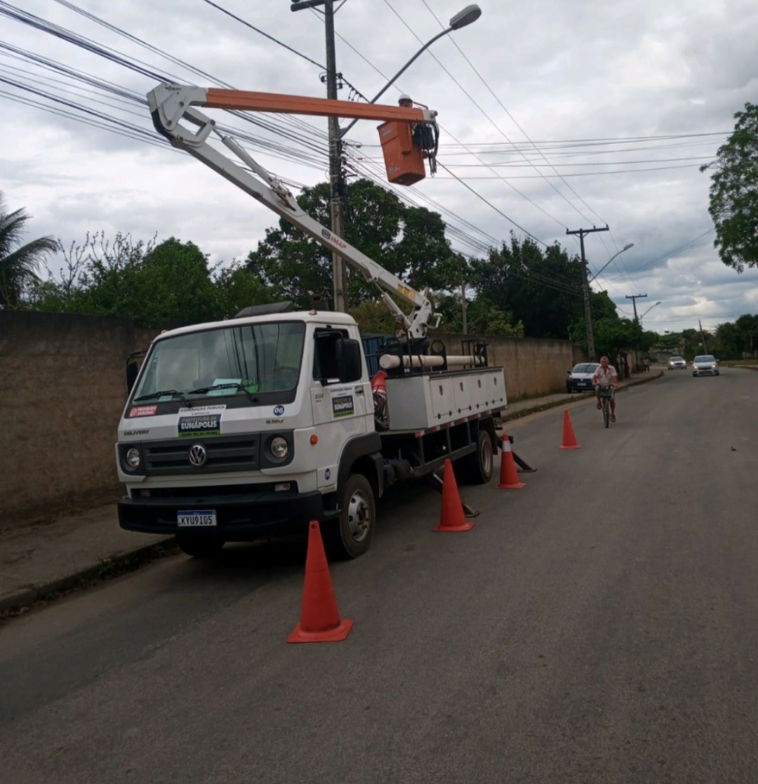
{"label": "palm tree with drooping fronds above the wall at far left edge", "polygon": [[20,245],[30,219],[24,209],[7,212],[0,191],[0,307],[17,307],[24,288],[39,280],[37,270],[47,254],[60,248],[52,237]]}

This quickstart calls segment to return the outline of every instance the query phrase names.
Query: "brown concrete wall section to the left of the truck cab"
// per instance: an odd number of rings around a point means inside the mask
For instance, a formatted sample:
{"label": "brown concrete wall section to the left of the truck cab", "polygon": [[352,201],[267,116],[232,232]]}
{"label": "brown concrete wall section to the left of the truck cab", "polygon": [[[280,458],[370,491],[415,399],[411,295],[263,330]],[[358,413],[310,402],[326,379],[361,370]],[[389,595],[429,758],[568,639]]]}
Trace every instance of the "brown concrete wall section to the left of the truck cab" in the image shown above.
{"label": "brown concrete wall section to the left of the truck cab", "polygon": [[118,497],[125,361],[155,330],[0,310],[0,529]]}

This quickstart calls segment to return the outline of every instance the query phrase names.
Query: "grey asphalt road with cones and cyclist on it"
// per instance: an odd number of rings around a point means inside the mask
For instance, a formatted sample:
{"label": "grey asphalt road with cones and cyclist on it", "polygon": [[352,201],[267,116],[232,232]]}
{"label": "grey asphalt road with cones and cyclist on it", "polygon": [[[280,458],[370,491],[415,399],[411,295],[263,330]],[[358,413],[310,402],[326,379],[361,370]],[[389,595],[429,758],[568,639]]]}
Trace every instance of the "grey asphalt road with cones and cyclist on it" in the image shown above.
{"label": "grey asphalt road with cones and cyclist on it", "polygon": [[0,779],[758,781],[758,373],[669,372],[605,430],[514,423],[527,487],[385,503],[332,564],[346,641],[288,645],[300,544],[159,561],[0,629]]}

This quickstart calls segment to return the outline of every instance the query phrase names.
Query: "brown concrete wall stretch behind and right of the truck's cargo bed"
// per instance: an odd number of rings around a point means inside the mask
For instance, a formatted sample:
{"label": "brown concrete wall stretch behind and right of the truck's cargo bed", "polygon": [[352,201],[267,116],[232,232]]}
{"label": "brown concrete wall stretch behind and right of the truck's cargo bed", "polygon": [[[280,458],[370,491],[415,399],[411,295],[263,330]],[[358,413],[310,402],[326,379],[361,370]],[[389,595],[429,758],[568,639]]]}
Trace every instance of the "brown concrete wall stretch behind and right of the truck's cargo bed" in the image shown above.
{"label": "brown concrete wall stretch behind and right of the truck's cargo bed", "polygon": [[[462,340],[470,335],[439,334],[448,354],[461,354]],[[562,392],[566,371],[575,365],[574,350],[568,340],[537,338],[482,338],[488,343],[490,365],[502,365],[506,373],[506,394],[511,401],[522,397]]]}

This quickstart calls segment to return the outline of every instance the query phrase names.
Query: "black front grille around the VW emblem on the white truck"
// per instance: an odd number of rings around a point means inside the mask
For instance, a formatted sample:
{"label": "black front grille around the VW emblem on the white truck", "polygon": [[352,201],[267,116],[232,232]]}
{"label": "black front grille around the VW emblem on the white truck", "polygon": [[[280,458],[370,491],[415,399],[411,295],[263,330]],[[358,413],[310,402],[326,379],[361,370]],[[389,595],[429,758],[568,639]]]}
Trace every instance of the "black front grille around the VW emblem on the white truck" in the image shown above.
{"label": "black front grille around the VW emblem on the white truck", "polygon": [[[175,476],[257,470],[260,441],[259,434],[187,438],[183,441],[147,441],[143,443],[145,473],[149,477],[156,477],[167,474]],[[207,459],[201,468],[190,463],[190,448],[195,445],[202,445],[207,453]]]}

